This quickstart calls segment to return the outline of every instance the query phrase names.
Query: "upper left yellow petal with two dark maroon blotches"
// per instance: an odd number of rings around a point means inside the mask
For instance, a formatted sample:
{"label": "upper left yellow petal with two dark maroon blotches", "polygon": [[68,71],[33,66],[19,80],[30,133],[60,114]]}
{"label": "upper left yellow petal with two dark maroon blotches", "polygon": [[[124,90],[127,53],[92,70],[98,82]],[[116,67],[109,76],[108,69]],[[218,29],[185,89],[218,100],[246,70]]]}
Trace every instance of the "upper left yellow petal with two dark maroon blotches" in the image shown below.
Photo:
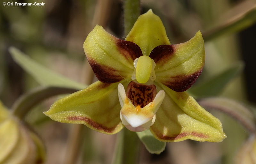
{"label": "upper left yellow petal with two dark maroon blotches", "polygon": [[133,61],[142,56],[138,45],[118,39],[98,25],[84,41],[84,52],[96,77],[104,83],[131,80]]}

